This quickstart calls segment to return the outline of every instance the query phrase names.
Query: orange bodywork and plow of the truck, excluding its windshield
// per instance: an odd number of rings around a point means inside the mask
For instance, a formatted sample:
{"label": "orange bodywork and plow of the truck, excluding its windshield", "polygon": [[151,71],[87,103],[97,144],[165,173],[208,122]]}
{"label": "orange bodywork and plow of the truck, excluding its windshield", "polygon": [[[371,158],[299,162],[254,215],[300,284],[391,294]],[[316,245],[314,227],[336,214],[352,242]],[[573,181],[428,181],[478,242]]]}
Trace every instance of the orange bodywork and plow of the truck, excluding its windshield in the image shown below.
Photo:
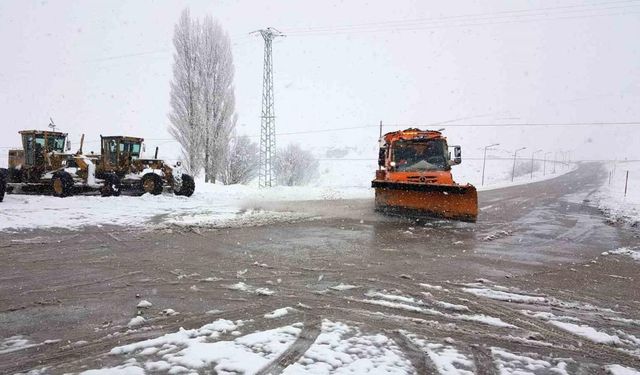
{"label": "orange bodywork and plow of the truck, excluding its windshield", "polygon": [[[446,219],[476,221],[478,216],[478,193],[473,185],[455,183],[451,175],[450,156],[446,138],[438,131],[407,129],[384,135],[380,153],[380,165],[372,181],[375,188],[375,207],[378,211],[408,216],[430,216]],[[441,142],[444,155],[440,168],[398,170],[402,161],[396,162],[395,145],[398,141]],[[420,143],[415,146],[416,149]],[[413,151],[413,146],[408,147]],[[397,158],[399,159],[399,157]],[[398,164],[396,164],[398,163]]]}

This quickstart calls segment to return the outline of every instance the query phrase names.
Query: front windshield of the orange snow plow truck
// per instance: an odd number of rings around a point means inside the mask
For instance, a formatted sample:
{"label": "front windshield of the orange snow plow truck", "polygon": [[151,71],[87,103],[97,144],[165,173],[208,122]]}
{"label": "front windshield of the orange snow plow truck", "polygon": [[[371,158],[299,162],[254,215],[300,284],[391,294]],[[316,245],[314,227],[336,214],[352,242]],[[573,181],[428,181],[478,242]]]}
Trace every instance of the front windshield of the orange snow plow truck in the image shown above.
{"label": "front windshield of the orange snow plow truck", "polygon": [[447,159],[444,140],[403,140],[393,145],[393,161],[400,172],[448,170]]}

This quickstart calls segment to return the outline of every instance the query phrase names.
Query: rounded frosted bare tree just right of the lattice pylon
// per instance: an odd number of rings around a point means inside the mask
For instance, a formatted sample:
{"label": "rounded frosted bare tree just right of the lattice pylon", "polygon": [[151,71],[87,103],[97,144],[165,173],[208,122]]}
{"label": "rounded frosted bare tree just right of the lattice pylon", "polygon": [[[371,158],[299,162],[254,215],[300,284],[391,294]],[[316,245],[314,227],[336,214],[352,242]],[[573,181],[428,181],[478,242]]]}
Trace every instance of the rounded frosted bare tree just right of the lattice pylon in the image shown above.
{"label": "rounded frosted bare tree just right of the lattice pylon", "polygon": [[280,185],[308,184],[318,175],[318,159],[295,144],[278,150],[275,172]]}

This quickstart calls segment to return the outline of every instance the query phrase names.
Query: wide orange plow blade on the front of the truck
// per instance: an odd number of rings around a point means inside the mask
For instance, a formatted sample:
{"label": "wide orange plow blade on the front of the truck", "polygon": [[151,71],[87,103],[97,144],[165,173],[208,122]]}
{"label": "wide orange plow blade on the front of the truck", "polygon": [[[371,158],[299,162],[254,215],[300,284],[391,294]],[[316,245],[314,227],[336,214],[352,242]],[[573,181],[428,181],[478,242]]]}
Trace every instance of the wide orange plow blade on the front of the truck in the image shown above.
{"label": "wide orange plow blade on the front of the truck", "polygon": [[440,185],[374,180],[377,211],[475,222],[478,192],[473,185]]}

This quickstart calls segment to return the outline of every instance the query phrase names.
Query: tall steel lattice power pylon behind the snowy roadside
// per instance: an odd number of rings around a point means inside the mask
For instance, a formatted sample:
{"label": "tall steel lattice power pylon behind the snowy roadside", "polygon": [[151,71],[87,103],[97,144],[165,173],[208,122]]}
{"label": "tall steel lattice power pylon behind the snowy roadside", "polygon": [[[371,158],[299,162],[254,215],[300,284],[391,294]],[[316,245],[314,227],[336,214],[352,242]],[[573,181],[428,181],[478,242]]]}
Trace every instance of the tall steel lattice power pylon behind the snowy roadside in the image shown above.
{"label": "tall steel lattice power pylon behind the snowy roadside", "polygon": [[[284,36],[273,27],[257,30],[264,39],[264,75],[262,84],[262,116],[260,126],[260,187],[275,185],[276,116],[273,106],[273,59],[271,45],[274,38]],[[252,34],[253,34],[252,33]]]}

